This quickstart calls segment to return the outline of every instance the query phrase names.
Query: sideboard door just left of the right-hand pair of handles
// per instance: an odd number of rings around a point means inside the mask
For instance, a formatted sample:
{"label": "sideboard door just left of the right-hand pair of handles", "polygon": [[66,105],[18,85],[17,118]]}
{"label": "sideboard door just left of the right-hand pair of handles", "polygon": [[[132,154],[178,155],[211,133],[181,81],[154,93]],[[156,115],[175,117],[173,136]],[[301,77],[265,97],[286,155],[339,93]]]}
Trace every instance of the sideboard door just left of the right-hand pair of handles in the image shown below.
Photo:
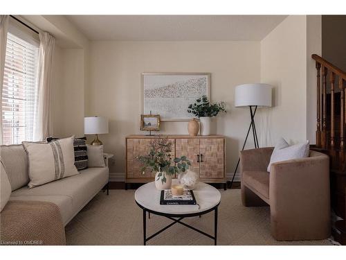
{"label": "sideboard door just left of the right-hand pair of handles", "polygon": [[190,170],[199,173],[199,138],[177,138],[175,141],[176,157],[186,156],[190,162]]}

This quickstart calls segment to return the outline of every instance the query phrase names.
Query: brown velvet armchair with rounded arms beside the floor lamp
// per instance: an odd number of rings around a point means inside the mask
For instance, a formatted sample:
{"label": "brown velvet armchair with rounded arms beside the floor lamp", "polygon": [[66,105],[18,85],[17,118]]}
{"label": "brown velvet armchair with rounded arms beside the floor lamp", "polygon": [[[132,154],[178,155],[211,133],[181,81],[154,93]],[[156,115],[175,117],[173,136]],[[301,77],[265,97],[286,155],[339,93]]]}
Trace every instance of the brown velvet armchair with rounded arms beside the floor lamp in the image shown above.
{"label": "brown velvet armchair with rounded arms beside the floor lamp", "polygon": [[244,150],[242,202],[269,205],[271,234],[278,241],[326,239],[330,236],[329,157],[310,156],[269,164],[273,148]]}

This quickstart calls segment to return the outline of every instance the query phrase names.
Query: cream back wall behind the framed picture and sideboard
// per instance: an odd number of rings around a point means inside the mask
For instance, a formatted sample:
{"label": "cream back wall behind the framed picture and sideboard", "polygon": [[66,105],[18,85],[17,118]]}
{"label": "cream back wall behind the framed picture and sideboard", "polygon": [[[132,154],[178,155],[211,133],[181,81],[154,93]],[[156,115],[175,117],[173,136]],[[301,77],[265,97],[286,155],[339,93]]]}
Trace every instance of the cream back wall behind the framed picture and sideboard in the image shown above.
{"label": "cream back wall behind the framed picture and sideboard", "polygon": [[[211,73],[212,100],[229,105],[216,124],[227,137],[226,171],[233,172],[250,120],[248,110],[234,108],[234,87],[260,80],[260,42],[91,42],[87,115],[109,118],[109,134],[100,139],[116,155],[111,172],[125,172],[125,137],[145,134],[139,130],[142,72]],[[187,124],[163,122],[161,134],[188,134]]]}

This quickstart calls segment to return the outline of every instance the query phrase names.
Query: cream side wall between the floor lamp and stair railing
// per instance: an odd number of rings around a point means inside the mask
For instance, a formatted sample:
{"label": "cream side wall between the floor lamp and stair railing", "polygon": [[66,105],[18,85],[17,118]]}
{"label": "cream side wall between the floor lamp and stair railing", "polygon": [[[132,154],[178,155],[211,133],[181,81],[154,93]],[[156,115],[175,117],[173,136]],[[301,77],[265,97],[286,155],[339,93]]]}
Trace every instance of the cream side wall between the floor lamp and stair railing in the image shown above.
{"label": "cream side wall between the floor lamp and stair railing", "polygon": [[273,85],[273,107],[260,111],[260,146],[307,139],[307,19],[289,16],[261,42],[261,81]]}

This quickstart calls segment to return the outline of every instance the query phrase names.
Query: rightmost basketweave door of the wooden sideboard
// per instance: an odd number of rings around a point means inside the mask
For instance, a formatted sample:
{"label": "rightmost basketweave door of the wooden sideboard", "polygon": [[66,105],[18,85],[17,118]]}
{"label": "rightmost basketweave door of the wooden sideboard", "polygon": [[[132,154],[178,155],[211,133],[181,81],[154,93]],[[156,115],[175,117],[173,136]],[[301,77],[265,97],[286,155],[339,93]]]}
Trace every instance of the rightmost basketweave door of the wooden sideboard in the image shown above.
{"label": "rightmost basketweave door of the wooden sideboard", "polygon": [[199,177],[221,178],[224,176],[224,139],[201,138],[200,139],[201,163]]}

